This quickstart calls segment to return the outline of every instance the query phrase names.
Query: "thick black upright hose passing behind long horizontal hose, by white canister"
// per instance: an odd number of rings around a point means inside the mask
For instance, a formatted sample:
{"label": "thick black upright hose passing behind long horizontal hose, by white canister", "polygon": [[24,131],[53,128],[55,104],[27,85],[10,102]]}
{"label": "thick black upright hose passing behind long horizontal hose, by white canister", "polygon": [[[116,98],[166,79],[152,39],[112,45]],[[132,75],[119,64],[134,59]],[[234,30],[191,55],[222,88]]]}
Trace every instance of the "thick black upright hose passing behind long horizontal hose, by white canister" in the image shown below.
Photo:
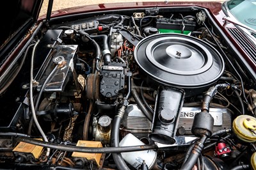
{"label": "thick black upright hose passing behind long horizontal hose, by white canister", "polygon": [[[125,109],[125,106],[122,105],[121,108]],[[119,128],[121,121],[122,118],[120,116],[115,116],[115,119],[113,121],[113,127],[111,130],[111,146],[114,148],[119,146]],[[129,170],[129,167],[126,165],[121,153],[113,153],[113,158],[118,169]]]}

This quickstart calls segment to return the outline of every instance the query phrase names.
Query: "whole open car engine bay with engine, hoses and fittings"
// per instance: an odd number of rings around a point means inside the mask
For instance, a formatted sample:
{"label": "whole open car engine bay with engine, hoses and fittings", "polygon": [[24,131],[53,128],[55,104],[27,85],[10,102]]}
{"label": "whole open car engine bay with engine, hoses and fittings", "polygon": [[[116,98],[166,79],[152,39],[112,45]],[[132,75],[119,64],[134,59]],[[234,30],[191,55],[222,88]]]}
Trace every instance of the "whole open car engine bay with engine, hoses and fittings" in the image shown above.
{"label": "whole open car engine bay with engine, hoses and fittings", "polygon": [[256,167],[255,79],[208,10],[45,23],[1,85],[1,167]]}

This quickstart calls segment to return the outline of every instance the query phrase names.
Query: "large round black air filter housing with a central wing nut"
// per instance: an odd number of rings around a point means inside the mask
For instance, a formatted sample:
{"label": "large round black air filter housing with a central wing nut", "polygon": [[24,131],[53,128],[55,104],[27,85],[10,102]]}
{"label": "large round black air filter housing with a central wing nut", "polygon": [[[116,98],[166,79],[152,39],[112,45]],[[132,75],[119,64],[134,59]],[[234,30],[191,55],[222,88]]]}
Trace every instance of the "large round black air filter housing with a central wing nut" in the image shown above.
{"label": "large round black air filter housing with a central wing nut", "polygon": [[148,36],[136,45],[134,57],[148,85],[182,88],[186,96],[202,93],[224,71],[220,53],[208,43],[188,35]]}

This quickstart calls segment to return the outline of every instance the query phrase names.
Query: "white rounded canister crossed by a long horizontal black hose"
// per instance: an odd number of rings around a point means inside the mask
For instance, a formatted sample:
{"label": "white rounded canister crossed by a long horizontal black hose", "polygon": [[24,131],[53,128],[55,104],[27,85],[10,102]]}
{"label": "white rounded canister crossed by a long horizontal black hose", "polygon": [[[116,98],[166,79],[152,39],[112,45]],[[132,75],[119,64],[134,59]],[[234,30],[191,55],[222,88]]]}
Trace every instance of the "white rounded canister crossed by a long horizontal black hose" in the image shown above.
{"label": "white rounded canister crossed by a long horizontal black hose", "polygon": [[[139,145],[145,145],[145,143],[141,142],[140,139],[135,137],[132,134],[127,134],[125,137],[120,141],[120,146],[139,146]],[[143,163],[143,160],[145,160],[145,163],[148,166],[148,169],[151,169],[154,167],[154,164],[156,164],[156,151],[154,150],[145,150],[145,151],[132,151],[132,152],[125,152],[121,153],[122,157],[126,162],[131,164],[136,169],[139,169],[141,164]]]}

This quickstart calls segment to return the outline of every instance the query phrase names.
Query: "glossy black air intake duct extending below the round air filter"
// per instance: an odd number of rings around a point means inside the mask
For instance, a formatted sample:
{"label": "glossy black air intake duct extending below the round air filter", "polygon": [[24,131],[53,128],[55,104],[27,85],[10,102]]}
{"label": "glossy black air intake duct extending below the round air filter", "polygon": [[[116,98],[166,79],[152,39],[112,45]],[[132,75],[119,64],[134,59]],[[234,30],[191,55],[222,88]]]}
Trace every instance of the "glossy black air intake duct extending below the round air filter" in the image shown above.
{"label": "glossy black air intake duct extending below the round air filter", "polygon": [[184,102],[184,90],[159,86],[154,113],[152,141],[162,144],[174,144],[174,136],[179,123],[180,111]]}

